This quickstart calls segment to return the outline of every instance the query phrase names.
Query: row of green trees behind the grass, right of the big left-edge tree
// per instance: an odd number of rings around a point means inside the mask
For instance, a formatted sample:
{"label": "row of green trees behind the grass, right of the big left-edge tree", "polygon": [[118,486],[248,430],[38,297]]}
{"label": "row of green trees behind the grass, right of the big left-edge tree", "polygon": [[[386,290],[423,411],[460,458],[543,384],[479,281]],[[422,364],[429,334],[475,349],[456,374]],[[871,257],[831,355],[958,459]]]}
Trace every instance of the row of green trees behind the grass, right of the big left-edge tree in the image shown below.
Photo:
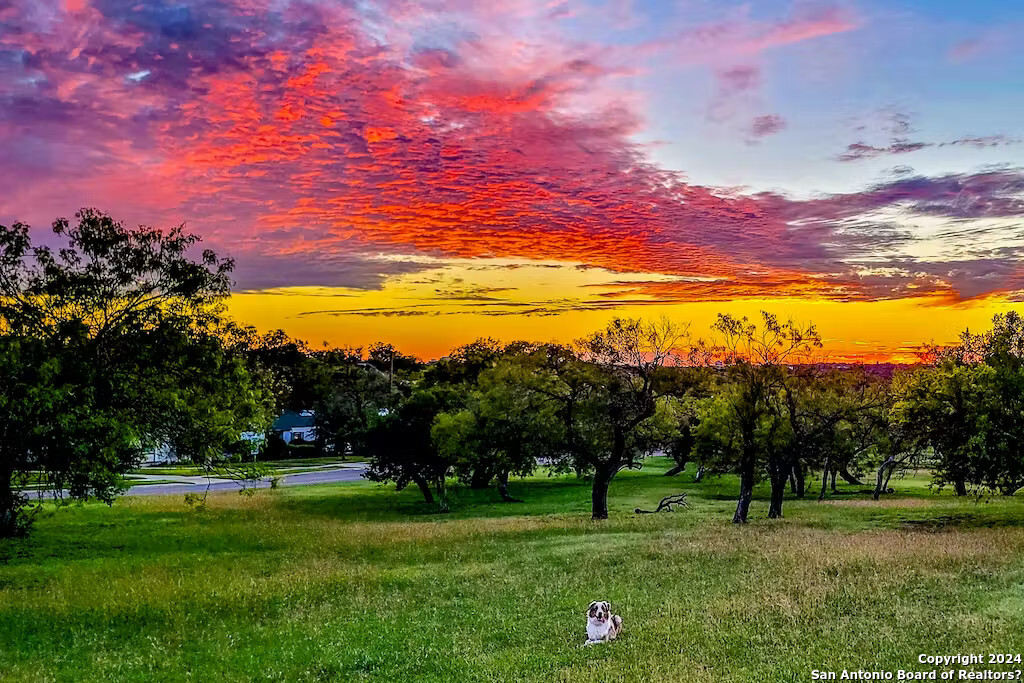
{"label": "row of green trees behind the grass, right of the big left-edge tree", "polygon": [[878,499],[909,468],[962,496],[1024,485],[1017,313],[909,367],[821,361],[813,326],[769,313],[721,314],[705,340],[686,333],[616,319],[573,344],[480,339],[429,364],[386,344],[309,351],[275,333],[258,353],[292,378],[287,401],[315,408],[325,444],[368,460],[377,480],[416,484],[440,509],[453,475],[512,500],[509,477],[540,462],[591,477],[602,518],[615,474],[655,452],[676,461],[669,474],[689,463],[698,478],[737,474],[736,522],[762,480],[770,517],[782,515],[787,488],[803,498],[814,482],[820,499],[843,478]]}

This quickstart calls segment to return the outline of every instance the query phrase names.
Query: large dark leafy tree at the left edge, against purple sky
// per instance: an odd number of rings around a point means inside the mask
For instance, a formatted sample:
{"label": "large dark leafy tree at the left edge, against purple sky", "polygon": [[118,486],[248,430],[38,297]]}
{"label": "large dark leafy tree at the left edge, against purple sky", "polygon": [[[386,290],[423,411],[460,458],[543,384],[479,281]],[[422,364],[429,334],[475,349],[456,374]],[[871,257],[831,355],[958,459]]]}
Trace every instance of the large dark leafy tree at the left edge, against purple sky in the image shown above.
{"label": "large dark leafy tree at the left edge, against purple sky", "polygon": [[58,249],[0,226],[0,535],[30,518],[13,481],[110,502],[144,447],[202,460],[268,418],[265,384],[222,340],[232,262],[180,227],[76,218],[53,223]]}

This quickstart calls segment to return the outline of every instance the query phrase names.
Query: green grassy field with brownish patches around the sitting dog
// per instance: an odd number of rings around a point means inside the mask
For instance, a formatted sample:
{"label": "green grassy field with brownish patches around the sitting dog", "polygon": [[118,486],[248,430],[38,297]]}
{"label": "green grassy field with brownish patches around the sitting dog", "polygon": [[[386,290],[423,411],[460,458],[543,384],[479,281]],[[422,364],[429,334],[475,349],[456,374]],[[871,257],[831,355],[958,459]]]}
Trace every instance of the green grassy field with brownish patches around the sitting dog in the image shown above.
{"label": "green grassy field with brownish patches around the sitting dog", "polygon": [[[604,522],[572,476],[521,504],[456,488],[443,516],[369,482],[49,512],[0,541],[0,680],[807,681],[1024,653],[1022,497],[896,480],[768,520],[760,490],[737,527],[734,479],[667,464],[616,478]],[[689,510],[633,514],[678,490]],[[593,599],[626,630],[585,648]]]}

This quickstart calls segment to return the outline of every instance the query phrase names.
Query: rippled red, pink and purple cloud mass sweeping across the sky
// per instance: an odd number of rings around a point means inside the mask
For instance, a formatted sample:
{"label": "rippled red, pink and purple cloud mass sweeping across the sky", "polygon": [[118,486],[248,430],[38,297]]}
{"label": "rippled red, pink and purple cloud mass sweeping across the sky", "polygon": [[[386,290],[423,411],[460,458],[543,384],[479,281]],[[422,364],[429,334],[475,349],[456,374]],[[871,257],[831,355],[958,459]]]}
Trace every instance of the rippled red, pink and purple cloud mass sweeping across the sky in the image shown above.
{"label": "rippled red, pink and purple cloud mass sweeping across the sky", "polygon": [[[641,287],[672,299],[953,287],[938,270],[860,274],[851,261],[867,260],[874,245],[848,224],[907,204],[951,213],[953,179],[812,202],[692,184],[650,162],[633,138],[640,122],[616,97],[593,97],[613,92],[621,73],[595,46],[466,33],[421,49],[410,36],[383,40],[354,6],[271,14],[263,5],[92,8],[86,24],[72,23],[74,37],[69,27],[51,37],[33,26],[3,38],[31,51],[46,85],[26,74],[4,83],[16,96],[5,101],[0,134],[20,146],[2,165],[13,171],[0,176],[10,189],[0,209],[43,204],[33,193],[48,179],[62,201],[119,213],[128,204],[147,221],[190,217],[243,262],[281,264],[273,276],[269,266],[244,270],[249,286],[335,282],[331,269],[357,271],[360,254],[418,252],[674,275]],[[425,10],[402,11],[415,25]],[[853,26],[823,10],[723,29],[715,46],[750,52]],[[756,84],[753,70],[724,73],[739,90]],[[782,125],[759,117],[752,134]],[[20,130],[31,134],[15,138]],[[41,150],[51,167],[32,166]],[[979,201],[956,211],[1024,213],[1013,174],[983,180],[971,180]],[[897,238],[879,228],[873,239]],[[355,280],[378,282],[373,272]],[[1005,282],[992,279],[992,290]]]}

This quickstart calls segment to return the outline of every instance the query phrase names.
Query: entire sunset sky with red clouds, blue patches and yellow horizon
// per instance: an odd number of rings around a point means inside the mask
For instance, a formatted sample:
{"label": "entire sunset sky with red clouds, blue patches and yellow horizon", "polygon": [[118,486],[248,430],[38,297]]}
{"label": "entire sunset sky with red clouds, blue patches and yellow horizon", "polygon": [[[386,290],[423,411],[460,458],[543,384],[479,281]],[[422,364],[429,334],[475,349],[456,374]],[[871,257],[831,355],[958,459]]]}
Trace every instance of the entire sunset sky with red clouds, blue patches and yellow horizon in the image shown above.
{"label": "entire sunset sky with red clouds, blue patches and yellow horizon", "polygon": [[1006,0],[0,0],[0,223],[186,223],[236,317],[313,345],[765,309],[911,359],[1024,308],[1022,33]]}

